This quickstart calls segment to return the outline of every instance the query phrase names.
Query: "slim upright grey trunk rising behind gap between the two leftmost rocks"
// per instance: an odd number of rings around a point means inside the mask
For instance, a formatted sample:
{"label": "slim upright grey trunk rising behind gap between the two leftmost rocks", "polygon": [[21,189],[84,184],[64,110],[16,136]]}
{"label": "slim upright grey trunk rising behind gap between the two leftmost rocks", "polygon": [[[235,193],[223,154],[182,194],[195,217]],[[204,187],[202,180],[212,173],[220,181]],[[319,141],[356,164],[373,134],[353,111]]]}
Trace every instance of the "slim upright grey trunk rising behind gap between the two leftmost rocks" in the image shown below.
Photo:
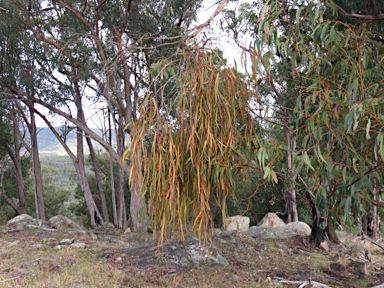
{"label": "slim upright grey trunk rising behind gap between the two leftmost rocks", "polygon": [[31,137],[31,148],[32,148],[32,171],[33,171],[33,182],[35,186],[35,206],[36,206],[36,218],[45,220],[45,205],[43,195],[43,178],[41,175],[41,165],[39,159],[39,148],[37,146],[37,132],[36,132],[36,121],[34,113],[34,103],[29,103],[30,119],[31,122],[28,125],[29,134]]}

